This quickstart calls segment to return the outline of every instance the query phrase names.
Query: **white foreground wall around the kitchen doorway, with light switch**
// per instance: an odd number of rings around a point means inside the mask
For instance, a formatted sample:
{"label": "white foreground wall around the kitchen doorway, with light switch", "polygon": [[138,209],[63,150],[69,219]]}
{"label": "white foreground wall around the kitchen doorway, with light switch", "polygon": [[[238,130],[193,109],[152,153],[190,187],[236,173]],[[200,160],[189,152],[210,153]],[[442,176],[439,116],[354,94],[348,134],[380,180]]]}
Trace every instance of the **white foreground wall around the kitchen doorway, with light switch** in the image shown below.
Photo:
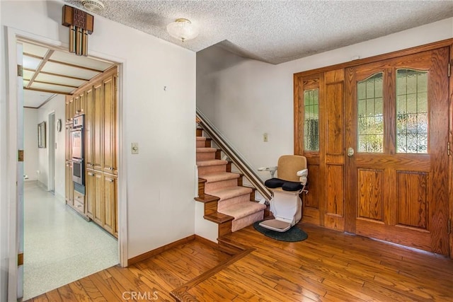
{"label": "white foreground wall around the kitchen doorway, with light switch", "polygon": [[[0,5],[2,26],[67,45],[68,28],[61,25],[64,2],[1,1]],[[4,39],[2,31],[2,61],[7,55]],[[194,233],[195,53],[100,16],[95,16],[94,33],[88,40],[88,54],[124,62],[119,185],[125,188],[126,183],[127,190],[120,192],[125,196],[127,192],[127,200],[120,196],[118,207],[122,209],[127,202],[130,258]],[[2,85],[6,85],[6,71],[2,65]],[[2,110],[7,95],[1,89]],[[7,124],[3,112],[0,129]],[[0,132],[2,155],[6,137]],[[130,154],[132,142],[139,143],[138,155]],[[6,163],[1,156],[0,166]],[[1,209],[7,208],[3,187],[0,196]],[[5,232],[2,228],[2,241]],[[1,257],[3,260],[5,255]]]}

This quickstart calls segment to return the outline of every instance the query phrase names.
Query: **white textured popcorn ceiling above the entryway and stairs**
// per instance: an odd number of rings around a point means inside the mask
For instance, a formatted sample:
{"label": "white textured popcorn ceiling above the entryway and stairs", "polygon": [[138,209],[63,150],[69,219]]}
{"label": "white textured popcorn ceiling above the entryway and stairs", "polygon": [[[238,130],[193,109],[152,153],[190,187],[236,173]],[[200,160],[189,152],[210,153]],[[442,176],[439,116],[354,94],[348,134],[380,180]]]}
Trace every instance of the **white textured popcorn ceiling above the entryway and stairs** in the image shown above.
{"label": "white textured popcorn ceiling above the entryway and stairs", "polygon": [[[233,52],[278,64],[453,16],[453,1],[101,0],[101,16],[195,52],[222,42]],[[79,0],[66,0],[83,8]],[[180,42],[166,25],[188,18],[200,28]],[[96,17],[95,17],[96,30]],[[453,26],[452,26],[453,30]]]}

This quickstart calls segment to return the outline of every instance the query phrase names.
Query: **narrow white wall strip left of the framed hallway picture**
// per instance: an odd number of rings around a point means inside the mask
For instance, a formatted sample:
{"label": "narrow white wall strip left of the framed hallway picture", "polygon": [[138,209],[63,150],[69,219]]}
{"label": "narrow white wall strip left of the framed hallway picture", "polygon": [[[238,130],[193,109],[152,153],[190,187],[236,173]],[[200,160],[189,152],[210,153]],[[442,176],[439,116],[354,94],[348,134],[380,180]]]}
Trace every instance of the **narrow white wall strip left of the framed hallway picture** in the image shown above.
{"label": "narrow white wall strip left of the framed hallway picture", "polygon": [[23,108],[23,173],[38,180],[38,109]]}

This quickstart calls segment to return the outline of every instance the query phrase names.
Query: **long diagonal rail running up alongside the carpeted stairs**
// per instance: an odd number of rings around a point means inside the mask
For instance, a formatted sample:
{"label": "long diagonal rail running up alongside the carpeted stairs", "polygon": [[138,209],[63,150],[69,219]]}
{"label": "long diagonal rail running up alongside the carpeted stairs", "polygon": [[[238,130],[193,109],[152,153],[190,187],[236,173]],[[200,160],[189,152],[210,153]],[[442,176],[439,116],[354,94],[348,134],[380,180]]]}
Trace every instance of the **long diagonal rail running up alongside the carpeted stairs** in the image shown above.
{"label": "long diagonal rail running up alongside the carpeted stairs", "polygon": [[256,170],[251,167],[251,164],[246,161],[244,156],[237,151],[234,146],[224,137],[224,135],[217,129],[212,122],[197,108],[197,123],[207,133],[217,146],[228,156],[228,158],[236,165],[236,168],[243,173],[244,176],[251,182],[251,184],[260,192],[268,202],[272,194],[270,190],[265,187],[263,180],[258,176]]}

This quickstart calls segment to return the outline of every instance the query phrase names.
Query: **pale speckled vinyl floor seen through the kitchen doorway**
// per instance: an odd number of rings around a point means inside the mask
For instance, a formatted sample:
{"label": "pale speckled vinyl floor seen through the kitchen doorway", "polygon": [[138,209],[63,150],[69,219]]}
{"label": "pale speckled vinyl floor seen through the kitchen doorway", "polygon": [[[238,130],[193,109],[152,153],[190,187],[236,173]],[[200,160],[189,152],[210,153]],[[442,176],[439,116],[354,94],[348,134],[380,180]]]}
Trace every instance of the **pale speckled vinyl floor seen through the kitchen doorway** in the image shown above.
{"label": "pale speckled vinyl floor seen through the kitchen doorway", "polygon": [[117,265],[113,236],[34,182],[24,193],[24,301]]}

